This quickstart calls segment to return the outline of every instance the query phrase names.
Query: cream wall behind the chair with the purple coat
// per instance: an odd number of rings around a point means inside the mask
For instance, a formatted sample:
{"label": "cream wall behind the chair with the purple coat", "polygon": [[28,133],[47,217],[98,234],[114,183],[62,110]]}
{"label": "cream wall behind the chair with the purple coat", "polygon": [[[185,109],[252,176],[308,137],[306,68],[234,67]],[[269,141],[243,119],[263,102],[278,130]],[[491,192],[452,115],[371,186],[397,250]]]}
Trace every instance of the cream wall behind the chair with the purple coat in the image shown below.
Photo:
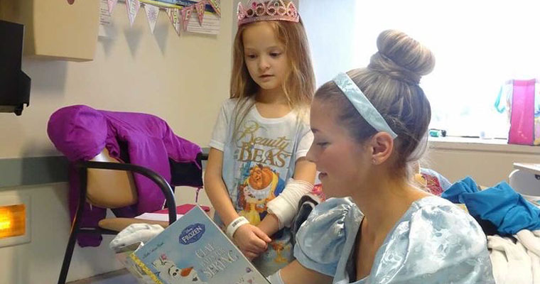
{"label": "cream wall behind the chair with the purple coat", "polygon": [[[232,1],[222,0],[217,36],[178,37],[161,11],[152,35],[141,9],[129,27],[126,8],[114,11],[114,38],[100,38],[95,60],[23,60],[32,78],[31,105],[22,116],[0,114],[0,158],[59,155],[46,126],[50,114],[70,104],[141,111],[166,119],[175,133],[207,146],[220,103],[228,97],[231,68]],[[178,189],[178,202],[194,191]],[[0,248],[0,283],[56,283],[70,223],[66,183],[0,188],[1,195],[31,197],[31,242]],[[209,204],[201,197],[201,204]],[[99,248],[76,246],[68,280],[120,268],[105,236]]]}

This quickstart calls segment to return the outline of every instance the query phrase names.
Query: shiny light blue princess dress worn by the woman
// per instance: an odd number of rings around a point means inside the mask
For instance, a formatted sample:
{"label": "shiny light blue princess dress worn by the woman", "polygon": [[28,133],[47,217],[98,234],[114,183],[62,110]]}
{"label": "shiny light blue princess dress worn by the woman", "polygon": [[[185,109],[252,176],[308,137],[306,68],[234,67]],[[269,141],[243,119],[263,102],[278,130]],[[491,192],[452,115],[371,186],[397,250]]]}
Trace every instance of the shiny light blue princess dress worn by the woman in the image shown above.
{"label": "shiny light blue princess dress worn by the woman", "polygon": [[482,229],[440,197],[413,202],[384,239],[371,273],[351,281],[362,218],[348,198],[319,204],[298,231],[294,256],[306,268],[333,276],[333,283],[495,283]]}

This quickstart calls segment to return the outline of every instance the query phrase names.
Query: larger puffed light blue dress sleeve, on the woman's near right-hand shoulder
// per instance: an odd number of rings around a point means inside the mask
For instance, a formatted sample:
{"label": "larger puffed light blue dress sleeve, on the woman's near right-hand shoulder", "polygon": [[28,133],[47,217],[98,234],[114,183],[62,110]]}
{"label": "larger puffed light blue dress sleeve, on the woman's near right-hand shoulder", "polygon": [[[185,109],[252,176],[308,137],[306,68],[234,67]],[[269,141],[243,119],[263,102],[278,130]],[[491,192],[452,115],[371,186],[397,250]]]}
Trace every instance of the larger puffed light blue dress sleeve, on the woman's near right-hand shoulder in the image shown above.
{"label": "larger puffed light blue dress sleeve, on the woman's near right-hand shoulder", "polygon": [[473,217],[441,199],[409,211],[374,261],[380,265],[373,283],[495,283],[486,237]]}

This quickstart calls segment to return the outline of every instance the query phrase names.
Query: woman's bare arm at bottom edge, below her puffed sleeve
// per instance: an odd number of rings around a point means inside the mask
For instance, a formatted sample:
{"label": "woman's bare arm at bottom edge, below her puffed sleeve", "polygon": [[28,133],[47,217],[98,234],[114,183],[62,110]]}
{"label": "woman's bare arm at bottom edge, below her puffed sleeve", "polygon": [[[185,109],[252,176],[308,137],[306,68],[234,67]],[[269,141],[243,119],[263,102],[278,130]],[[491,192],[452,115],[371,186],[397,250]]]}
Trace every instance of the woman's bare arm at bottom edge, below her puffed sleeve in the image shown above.
{"label": "woman's bare arm at bottom edge, below her puffed sleeve", "polygon": [[296,284],[296,283],[313,283],[313,284],[329,284],[333,278],[317,271],[305,268],[298,261],[293,261],[287,266],[271,275],[269,278],[272,284]]}

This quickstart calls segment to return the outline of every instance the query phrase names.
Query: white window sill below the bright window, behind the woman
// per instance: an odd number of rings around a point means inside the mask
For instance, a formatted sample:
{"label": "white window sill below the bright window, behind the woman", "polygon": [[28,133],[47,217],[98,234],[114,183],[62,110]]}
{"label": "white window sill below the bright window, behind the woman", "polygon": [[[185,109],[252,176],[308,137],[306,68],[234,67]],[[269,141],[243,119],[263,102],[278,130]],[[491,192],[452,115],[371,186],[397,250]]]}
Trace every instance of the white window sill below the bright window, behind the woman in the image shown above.
{"label": "white window sill below the bright window, behind the woman", "polygon": [[540,146],[508,144],[506,139],[430,137],[429,148],[475,152],[504,152],[540,155]]}

